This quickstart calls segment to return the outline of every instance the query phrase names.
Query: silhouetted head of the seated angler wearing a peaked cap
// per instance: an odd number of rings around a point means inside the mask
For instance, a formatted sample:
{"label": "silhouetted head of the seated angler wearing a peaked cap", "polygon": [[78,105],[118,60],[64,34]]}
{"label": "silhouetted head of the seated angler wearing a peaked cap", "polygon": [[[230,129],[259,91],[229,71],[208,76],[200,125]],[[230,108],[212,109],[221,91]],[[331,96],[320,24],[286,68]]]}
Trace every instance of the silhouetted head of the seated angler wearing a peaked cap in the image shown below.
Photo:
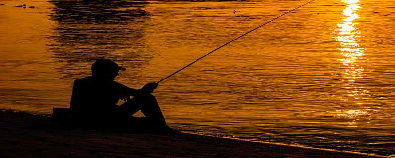
{"label": "silhouetted head of the seated angler wearing a peaked cap", "polygon": [[117,63],[107,59],[97,59],[91,67],[92,76],[97,79],[113,80],[119,70],[126,70],[126,68],[120,67]]}

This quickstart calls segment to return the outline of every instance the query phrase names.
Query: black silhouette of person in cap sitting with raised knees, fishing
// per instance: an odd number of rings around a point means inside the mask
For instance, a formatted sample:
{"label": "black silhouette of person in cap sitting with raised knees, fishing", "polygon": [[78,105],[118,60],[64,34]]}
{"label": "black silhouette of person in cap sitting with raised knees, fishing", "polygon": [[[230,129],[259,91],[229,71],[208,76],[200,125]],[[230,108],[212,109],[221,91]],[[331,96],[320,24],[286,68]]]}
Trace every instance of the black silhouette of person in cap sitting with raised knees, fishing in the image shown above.
{"label": "black silhouette of person in cap sitting with raised knees, fishing", "polygon": [[[119,70],[126,68],[107,59],[96,60],[91,70],[92,76],[74,81],[70,111],[75,123],[101,127],[144,126],[152,132],[175,132],[166,125],[158,102],[151,95],[158,83],[148,83],[141,89],[118,83],[114,78]],[[120,99],[126,102],[118,106]],[[139,110],[146,118],[131,116]]]}

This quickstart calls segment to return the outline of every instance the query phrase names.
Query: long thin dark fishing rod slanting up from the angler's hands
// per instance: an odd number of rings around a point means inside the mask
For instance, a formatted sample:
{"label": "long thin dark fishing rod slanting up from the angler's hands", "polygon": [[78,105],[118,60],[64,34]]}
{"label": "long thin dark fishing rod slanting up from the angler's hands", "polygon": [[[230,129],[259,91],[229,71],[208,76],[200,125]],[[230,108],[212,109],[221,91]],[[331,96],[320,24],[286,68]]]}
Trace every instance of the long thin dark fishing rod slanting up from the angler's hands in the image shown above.
{"label": "long thin dark fishing rod slanting up from the angler's hands", "polygon": [[311,3],[311,2],[313,2],[313,1],[315,1],[315,0],[311,0],[311,1],[305,3],[305,4],[301,5],[301,6],[298,6],[298,7],[294,8],[294,9],[292,9],[292,10],[290,10],[290,11],[288,11],[288,12],[282,14],[282,15],[280,15],[280,16],[277,16],[276,18],[274,18],[274,19],[272,19],[272,20],[270,20],[270,21],[268,21],[268,22],[266,22],[266,23],[263,23],[263,24],[259,25],[258,27],[256,27],[256,28],[254,28],[254,29],[252,29],[252,30],[250,30],[250,31],[248,31],[248,32],[246,32],[246,33],[244,33],[243,35],[241,35],[241,36],[239,36],[239,37],[237,37],[237,38],[235,38],[235,39],[233,39],[233,40],[231,40],[231,41],[229,41],[229,42],[227,42],[227,43],[221,45],[220,47],[215,48],[213,51],[211,51],[211,52],[209,52],[209,53],[207,53],[207,54],[201,56],[200,58],[196,59],[196,60],[193,61],[192,63],[189,63],[188,65],[186,65],[186,66],[182,67],[181,69],[177,70],[177,71],[174,72],[173,74],[170,74],[169,76],[167,76],[167,77],[165,77],[165,78],[163,78],[163,79],[160,79],[157,83],[160,83],[161,81],[163,81],[163,80],[165,80],[165,79],[167,79],[167,78],[170,78],[170,77],[173,76],[174,74],[177,74],[177,73],[180,72],[181,70],[184,70],[185,68],[187,68],[187,67],[191,66],[192,64],[196,63],[196,62],[199,61],[200,59],[203,59],[204,57],[210,55],[211,53],[217,51],[218,49],[221,49],[222,47],[228,45],[229,43],[231,43],[231,42],[233,42],[233,41],[235,41],[235,40],[237,40],[237,39],[243,37],[244,35],[247,35],[248,33],[253,32],[254,30],[256,30],[256,29],[258,29],[258,28],[260,28],[260,27],[262,27],[262,26],[264,26],[264,25],[266,25],[266,24],[268,24],[268,23],[270,23],[270,22],[272,22],[272,21],[274,21],[274,20],[276,20],[276,19],[278,19],[278,18],[280,18],[281,16],[284,16],[284,15],[286,15],[286,14],[288,14],[288,13],[290,13],[290,12],[292,12],[292,11],[294,11],[294,10],[296,10],[296,9],[298,9],[298,8],[300,8],[300,7],[302,7],[302,6],[305,6],[305,5],[307,5],[307,4]]}

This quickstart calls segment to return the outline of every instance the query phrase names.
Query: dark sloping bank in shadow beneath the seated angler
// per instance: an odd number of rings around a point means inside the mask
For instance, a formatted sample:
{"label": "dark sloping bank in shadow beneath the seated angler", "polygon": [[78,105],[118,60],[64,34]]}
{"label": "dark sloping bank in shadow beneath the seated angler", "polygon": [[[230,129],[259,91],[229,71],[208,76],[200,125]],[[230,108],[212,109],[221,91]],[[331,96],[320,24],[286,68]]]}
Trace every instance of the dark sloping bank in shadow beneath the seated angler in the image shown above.
{"label": "dark sloping bank in shadow beneath the seated angler", "polygon": [[391,158],[188,133],[71,129],[4,110],[0,120],[0,158]]}

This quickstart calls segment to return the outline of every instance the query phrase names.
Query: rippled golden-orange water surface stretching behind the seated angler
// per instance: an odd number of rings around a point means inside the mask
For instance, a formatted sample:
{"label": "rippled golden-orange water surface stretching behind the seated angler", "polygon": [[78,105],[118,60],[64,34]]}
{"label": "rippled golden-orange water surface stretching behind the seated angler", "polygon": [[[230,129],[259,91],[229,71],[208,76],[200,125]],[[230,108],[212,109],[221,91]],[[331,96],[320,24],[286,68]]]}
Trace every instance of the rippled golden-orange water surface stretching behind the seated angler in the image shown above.
{"label": "rippled golden-orange water surface stretching behind the seated angler", "polygon": [[[140,88],[305,0],[0,3],[0,108],[51,113],[99,57]],[[39,7],[39,8],[37,8]],[[173,127],[395,153],[395,1],[316,0],[161,82]]]}

